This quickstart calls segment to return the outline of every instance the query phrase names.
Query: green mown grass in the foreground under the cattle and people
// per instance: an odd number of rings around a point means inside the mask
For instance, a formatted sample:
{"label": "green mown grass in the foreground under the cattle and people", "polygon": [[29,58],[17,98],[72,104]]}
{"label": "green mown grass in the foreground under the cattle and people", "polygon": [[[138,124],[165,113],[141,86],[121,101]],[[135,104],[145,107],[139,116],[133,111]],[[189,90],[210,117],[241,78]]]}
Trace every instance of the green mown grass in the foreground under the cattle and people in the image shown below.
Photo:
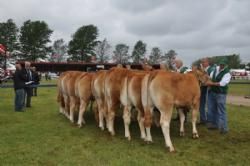
{"label": "green mown grass in the foreground under the cattle and people", "polygon": [[136,122],[131,141],[124,138],[121,118],[114,137],[97,127],[91,111],[83,128],[71,124],[58,112],[56,88],[39,88],[26,112],[13,111],[13,97],[13,89],[0,88],[0,165],[250,165],[250,107],[228,105],[227,135],[199,126],[194,140],[188,123],[182,138],[172,121],[177,151],[169,153],[160,128],[152,128],[154,143],[146,144]]}

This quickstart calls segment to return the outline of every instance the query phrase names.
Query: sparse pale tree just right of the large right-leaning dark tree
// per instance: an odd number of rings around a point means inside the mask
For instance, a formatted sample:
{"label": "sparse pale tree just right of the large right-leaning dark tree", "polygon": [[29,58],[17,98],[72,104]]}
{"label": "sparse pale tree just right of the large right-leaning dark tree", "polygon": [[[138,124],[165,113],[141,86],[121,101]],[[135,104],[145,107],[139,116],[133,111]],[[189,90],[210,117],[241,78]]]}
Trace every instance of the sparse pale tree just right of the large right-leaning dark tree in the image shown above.
{"label": "sparse pale tree just right of the large right-leaning dark tree", "polygon": [[109,51],[110,51],[111,45],[108,43],[106,39],[99,42],[97,46],[95,47],[95,54],[97,57],[97,60],[100,63],[107,62],[109,59]]}

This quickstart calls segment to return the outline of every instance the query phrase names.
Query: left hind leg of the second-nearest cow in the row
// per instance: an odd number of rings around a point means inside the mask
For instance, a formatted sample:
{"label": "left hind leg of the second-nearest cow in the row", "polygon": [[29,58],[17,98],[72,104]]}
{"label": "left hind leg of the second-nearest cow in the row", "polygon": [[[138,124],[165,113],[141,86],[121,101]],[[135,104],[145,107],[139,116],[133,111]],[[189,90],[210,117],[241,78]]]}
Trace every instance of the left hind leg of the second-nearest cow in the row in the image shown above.
{"label": "left hind leg of the second-nearest cow in the row", "polygon": [[125,137],[130,141],[130,131],[129,131],[129,125],[131,122],[131,106],[124,106],[123,109],[123,121],[124,121],[124,128],[125,128]]}

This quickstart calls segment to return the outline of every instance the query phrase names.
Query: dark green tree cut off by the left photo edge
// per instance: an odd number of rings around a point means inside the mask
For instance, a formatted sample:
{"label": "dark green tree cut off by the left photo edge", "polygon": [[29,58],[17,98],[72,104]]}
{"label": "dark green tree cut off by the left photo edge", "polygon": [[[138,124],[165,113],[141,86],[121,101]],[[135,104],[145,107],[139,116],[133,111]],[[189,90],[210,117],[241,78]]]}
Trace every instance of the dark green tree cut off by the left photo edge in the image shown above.
{"label": "dark green tree cut off by the left photo edge", "polygon": [[18,49],[17,33],[18,28],[12,19],[0,23],[0,44],[3,44],[12,56],[16,55]]}

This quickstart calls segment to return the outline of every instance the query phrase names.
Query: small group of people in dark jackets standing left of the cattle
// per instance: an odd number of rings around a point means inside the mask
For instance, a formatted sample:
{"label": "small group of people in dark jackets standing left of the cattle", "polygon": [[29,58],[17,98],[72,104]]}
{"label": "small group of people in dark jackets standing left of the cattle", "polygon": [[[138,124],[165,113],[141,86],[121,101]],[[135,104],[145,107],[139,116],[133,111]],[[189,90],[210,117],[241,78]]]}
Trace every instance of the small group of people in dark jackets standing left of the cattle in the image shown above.
{"label": "small group of people in dark jackets standing left of the cattle", "polygon": [[16,71],[13,75],[15,111],[22,112],[25,107],[31,107],[31,97],[37,96],[40,77],[36,72],[36,68],[30,66],[30,62],[25,62],[24,66],[17,62],[15,66]]}

